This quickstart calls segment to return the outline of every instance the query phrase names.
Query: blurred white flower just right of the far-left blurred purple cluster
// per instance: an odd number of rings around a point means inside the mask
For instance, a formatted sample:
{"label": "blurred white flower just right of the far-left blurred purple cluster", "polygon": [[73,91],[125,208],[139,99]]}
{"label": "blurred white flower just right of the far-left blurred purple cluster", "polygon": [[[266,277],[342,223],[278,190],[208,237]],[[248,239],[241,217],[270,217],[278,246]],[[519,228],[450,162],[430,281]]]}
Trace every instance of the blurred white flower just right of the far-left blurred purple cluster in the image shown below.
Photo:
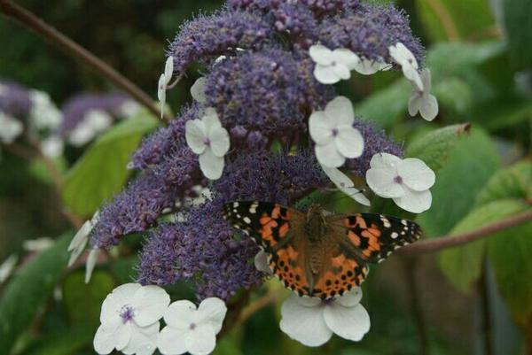
{"label": "blurred white flower just right of the far-left blurred purple cluster", "polygon": [[43,91],[31,90],[29,98],[32,102],[29,112],[32,127],[37,130],[58,129],[63,122],[63,113],[52,103],[50,96]]}

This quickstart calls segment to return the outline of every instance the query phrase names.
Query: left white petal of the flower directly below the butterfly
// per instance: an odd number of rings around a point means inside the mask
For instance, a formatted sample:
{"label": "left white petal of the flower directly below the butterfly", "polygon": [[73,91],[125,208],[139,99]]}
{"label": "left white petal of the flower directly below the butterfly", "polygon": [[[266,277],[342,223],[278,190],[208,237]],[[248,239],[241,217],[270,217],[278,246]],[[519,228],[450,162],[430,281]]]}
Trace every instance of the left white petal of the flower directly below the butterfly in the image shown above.
{"label": "left white petal of the flower directly below the butterfly", "polygon": [[281,307],[279,326],[294,340],[307,346],[319,346],[327,343],[332,336],[323,312],[324,305],[319,299],[291,295]]}

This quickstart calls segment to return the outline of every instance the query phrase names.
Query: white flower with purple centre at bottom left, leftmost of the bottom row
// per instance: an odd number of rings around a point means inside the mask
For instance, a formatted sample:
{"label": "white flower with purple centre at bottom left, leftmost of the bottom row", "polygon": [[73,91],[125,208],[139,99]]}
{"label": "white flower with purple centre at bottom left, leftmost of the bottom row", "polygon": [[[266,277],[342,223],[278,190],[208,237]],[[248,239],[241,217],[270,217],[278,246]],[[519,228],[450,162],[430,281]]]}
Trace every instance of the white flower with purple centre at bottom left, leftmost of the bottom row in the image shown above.
{"label": "white flower with purple centre at bottom left, leftmost of the bottom row", "polygon": [[100,313],[102,323],[94,336],[94,349],[108,354],[151,355],[156,349],[160,318],[170,297],[158,286],[126,283],[107,295]]}

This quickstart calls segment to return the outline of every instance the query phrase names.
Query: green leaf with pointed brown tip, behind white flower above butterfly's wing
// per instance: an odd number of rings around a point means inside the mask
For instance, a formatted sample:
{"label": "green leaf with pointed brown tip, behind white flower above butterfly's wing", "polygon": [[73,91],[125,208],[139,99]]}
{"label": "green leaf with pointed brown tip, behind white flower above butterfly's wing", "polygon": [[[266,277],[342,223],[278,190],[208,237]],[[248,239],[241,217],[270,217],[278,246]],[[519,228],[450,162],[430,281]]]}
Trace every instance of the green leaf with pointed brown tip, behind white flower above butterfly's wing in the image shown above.
{"label": "green leaf with pointed brown tip, behind white flower above butterfly's wing", "polygon": [[470,127],[468,123],[465,123],[435,129],[415,139],[408,146],[405,154],[407,157],[420,158],[434,172],[437,172],[445,165],[450,150],[463,135],[469,133]]}

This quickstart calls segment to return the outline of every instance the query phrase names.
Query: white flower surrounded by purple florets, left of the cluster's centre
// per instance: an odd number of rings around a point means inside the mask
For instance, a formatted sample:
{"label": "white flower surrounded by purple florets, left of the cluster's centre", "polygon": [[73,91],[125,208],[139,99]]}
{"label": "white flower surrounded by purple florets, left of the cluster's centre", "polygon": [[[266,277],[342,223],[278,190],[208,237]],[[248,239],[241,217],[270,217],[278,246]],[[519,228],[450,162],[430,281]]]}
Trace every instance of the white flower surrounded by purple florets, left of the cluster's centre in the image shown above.
{"label": "white flower surrounded by purple florets, left of the cluster's centre", "polygon": [[223,156],[229,150],[229,133],[222,127],[218,114],[212,107],[207,108],[201,120],[189,120],[185,125],[186,143],[192,151],[200,155],[200,169],[210,180],[222,176]]}

